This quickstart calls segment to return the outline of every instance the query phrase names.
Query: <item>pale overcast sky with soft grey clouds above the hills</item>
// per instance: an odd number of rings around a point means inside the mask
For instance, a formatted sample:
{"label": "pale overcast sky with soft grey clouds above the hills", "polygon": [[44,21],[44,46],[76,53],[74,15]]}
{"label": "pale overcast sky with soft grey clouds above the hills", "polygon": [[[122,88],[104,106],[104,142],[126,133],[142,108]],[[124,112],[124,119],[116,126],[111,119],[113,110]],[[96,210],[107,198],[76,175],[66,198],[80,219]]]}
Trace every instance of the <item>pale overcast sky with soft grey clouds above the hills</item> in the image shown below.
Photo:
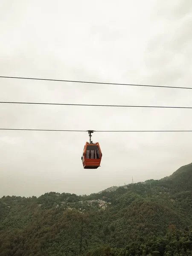
{"label": "pale overcast sky with soft grey clouds above the hills", "polygon": [[[191,0],[0,0],[0,76],[192,87]],[[192,90],[0,78],[0,101],[192,107]],[[192,130],[191,109],[0,104],[0,128]],[[0,197],[90,194],[192,162],[191,133],[0,131]]]}

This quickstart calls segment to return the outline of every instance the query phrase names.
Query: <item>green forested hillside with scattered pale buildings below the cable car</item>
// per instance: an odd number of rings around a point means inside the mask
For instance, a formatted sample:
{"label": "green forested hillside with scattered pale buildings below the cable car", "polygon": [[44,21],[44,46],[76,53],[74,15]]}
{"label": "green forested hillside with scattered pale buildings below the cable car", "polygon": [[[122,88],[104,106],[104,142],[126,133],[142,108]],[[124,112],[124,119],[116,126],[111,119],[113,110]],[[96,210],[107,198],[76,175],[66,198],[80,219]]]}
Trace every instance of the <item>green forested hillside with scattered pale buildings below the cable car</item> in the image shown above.
{"label": "green forested hillside with scattered pale buildings below the cable car", "polygon": [[192,163],[89,196],[0,199],[0,256],[192,256]]}

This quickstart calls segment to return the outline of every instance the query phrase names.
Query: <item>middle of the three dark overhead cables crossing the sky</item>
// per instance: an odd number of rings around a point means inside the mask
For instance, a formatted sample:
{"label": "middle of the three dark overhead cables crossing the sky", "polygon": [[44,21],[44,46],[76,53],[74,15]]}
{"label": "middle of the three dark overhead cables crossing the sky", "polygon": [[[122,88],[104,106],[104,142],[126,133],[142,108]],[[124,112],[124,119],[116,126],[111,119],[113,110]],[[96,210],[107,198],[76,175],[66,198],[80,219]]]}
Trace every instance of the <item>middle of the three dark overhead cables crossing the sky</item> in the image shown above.
{"label": "middle of the three dark overhead cables crossing the sky", "polygon": [[97,104],[70,104],[70,103],[44,103],[44,102],[0,102],[7,104],[32,104],[32,105],[65,105],[65,106],[91,106],[91,107],[125,107],[125,108],[188,108],[178,106],[140,106],[140,105],[97,105]]}

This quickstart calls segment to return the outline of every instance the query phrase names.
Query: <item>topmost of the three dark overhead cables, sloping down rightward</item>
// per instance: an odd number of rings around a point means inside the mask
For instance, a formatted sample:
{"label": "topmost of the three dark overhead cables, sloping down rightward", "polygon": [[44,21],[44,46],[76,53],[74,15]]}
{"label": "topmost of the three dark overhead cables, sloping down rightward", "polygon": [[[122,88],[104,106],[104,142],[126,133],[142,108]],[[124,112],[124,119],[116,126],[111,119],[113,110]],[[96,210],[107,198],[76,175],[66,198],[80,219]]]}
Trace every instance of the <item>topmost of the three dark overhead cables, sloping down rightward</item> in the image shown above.
{"label": "topmost of the three dark overhead cables, sloping down rightward", "polygon": [[0,76],[0,78],[30,79],[30,80],[42,80],[42,81],[60,81],[60,82],[71,82],[71,83],[85,83],[85,84],[112,84],[112,85],[126,85],[126,86],[192,89],[192,87],[179,87],[179,86],[163,86],[163,85],[149,85],[149,84],[122,84],[122,83],[106,83],[106,82],[95,82],[95,81],[76,81],[76,80],[61,80],[61,79],[44,79],[44,78],[17,77],[17,76]]}

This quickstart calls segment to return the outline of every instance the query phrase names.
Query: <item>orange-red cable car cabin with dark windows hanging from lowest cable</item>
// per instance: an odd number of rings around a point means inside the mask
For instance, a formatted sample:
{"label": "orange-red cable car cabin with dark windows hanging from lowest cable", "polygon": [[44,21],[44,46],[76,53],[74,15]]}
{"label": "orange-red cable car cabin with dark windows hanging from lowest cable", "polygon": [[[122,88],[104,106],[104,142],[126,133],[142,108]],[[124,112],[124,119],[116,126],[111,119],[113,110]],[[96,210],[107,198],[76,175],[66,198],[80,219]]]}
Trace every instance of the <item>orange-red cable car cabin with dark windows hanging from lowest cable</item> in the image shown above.
{"label": "orange-red cable car cabin with dark windows hanging from lowest cable", "polygon": [[[88,131],[89,136],[93,131]],[[93,143],[90,139],[90,143],[86,142],[81,157],[84,169],[97,169],[100,166],[102,159],[102,152],[99,143]]]}

